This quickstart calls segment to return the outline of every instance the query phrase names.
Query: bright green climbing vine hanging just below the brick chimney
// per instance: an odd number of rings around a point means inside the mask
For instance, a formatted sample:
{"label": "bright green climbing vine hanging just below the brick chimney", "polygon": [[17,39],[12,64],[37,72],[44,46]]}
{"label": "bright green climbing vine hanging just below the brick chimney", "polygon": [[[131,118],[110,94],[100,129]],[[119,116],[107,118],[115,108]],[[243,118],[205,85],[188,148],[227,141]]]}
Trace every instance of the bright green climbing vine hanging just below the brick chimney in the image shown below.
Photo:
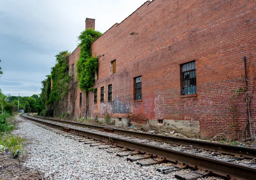
{"label": "bright green climbing vine hanging just below the brick chimney", "polygon": [[99,63],[98,58],[91,55],[91,44],[100,36],[101,32],[86,29],[78,37],[81,49],[79,60],[76,63],[77,80],[79,81],[79,88],[85,92],[93,90],[94,73],[98,69]]}

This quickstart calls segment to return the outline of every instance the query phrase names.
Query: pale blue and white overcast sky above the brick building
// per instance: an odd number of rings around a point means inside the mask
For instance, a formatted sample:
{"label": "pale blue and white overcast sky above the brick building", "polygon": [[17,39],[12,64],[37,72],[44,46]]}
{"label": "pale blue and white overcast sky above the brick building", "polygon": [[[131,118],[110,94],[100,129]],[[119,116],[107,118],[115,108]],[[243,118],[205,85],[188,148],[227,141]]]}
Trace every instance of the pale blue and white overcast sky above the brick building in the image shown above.
{"label": "pale blue and white overcast sky above the brick building", "polygon": [[40,94],[41,81],[60,51],[72,52],[85,18],[104,33],[146,0],[0,0],[0,89],[4,94]]}

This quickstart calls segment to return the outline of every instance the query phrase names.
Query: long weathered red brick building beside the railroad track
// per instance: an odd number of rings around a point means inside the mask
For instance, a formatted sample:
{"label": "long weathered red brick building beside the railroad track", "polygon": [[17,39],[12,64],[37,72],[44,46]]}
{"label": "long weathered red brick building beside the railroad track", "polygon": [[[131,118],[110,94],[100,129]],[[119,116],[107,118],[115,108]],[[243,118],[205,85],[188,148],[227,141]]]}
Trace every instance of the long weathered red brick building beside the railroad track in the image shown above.
{"label": "long weathered red brick building beside the railroad track", "polygon": [[[88,95],[90,117],[233,134],[247,121],[247,87],[255,121],[254,0],[147,1],[93,42],[92,55],[103,54],[97,91]],[[79,48],[69,57],[75,76],[78,59]],[[70,94],[69,111],[83,117],[85,94]]]}

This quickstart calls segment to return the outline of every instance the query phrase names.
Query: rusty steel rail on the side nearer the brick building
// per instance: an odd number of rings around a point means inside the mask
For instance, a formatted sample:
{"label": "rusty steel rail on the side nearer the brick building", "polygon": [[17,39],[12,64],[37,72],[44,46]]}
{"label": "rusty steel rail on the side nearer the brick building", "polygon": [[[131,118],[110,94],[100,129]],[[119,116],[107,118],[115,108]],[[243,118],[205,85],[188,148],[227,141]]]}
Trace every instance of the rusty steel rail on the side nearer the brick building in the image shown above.
{"label": "rusty steel rail on the side nearer the brick building", "polygon": [[[32,116],[32,115],[29,115],[29,116]],[[52,121],[61,122],[61,123],[68,123],[68,124],[74,125],[74,126],[99,129],[99,130],[104,130],[104,128],[106,128],[104,126],[95,126],[95,125],[76,123],[76,122],[65,121],[65,120],[57,120],[57,119],[52,119],[52,118],[47,118],[47,117],[37,117],[37,116],[32,116],[32,117],[46,119],[46,120],[52,120]],[[250,159],[256,158],[256,149],[253,149],[253,148],[232,146],[232,145],[220,144],[220,143],[212,143],[212,142],[201,141],[201,140],[185,139],[185,138],[180,138],[180,137],[169,137],[169,136],[163,136],[163,135],[158,135],[158,134],[149,134],[149,133],[143,133],[143,132],[137,132],[137,131],[128,131],[128,130],[123,130],[123,129],[115,129],[115,128],[108,128],[108,129],[112,129],[113,133],[126,134],[126,135],[137,136],[137,137],[144,137],[144,138],[152,139],[152,140],[159,140],[159,141],[164,141],[164,142],[168,142],[168,143],[176,143],[176,144],[180,144],[183,146],[194,146],[195,148],[208,149],[209,151],[215,151],[215,152],[220,152],[222,154],[230,154],[230,155],[235,155],[235,156],[239,156],[239,157],[246,157],[246,158],[250,158]]]}

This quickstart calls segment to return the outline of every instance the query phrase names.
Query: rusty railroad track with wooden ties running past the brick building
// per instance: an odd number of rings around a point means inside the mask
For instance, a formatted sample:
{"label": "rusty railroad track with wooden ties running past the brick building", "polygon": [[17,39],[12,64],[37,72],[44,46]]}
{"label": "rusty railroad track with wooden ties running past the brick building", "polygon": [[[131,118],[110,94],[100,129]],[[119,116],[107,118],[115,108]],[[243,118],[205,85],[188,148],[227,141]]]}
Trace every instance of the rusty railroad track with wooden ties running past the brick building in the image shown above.
{"label": "rusty railroad track with wooden ties running past the brick building", "polygon": [[[105,147],[110,149],[108,152],[123,152],[117,155],[122,157],[129,156],[127,159],[131,161],[148,159],[138,161],[137,163],[141,166],[164,162],[174,163],[174,166],[169,168],[158,169],[163,173],[190,168],[200,176],[219,176],[227,180],[256,179],[256,163],[251,161],[256,158],[256,149],[105,128],[29,115],[21,115],[21,117],[68,131],[60,131],[60,133],[71,133],[71,135],[77,134],[87,137],[83,139],[84,143],[90,143],[92,146],[99,146],[100,142],[111,143],[112,146]],[[88,137],[93,138],[93,141],[88,140]],[[111,148],[116,147],[119,147],[119,149],[111,150]],[[141,155],[139,156],[138,154]],[[131,155],[136,156],[131,157]],[[186,178],[186,174],[184,177]],[[189,174],[187,177],[189,177]]]}

